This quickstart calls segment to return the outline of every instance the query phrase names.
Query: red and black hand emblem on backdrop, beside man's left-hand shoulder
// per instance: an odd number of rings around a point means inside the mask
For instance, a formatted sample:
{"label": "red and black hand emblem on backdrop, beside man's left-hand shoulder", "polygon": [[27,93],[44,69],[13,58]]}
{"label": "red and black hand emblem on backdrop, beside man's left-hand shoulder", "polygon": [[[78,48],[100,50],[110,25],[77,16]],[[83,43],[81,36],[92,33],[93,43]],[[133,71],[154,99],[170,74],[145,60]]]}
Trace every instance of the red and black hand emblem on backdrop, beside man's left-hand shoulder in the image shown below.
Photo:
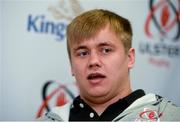
{"label": "red and black hand emblem on backdrop, beside man's left-hand shoulder", "polygon": [[44,112],[50,111],[51,107],[62,106],[72,101],[78,94],[75,83],[60,84],[57,81],[49,80],[42,87],[42,104],[39,107],[36,117],[42,116]]}

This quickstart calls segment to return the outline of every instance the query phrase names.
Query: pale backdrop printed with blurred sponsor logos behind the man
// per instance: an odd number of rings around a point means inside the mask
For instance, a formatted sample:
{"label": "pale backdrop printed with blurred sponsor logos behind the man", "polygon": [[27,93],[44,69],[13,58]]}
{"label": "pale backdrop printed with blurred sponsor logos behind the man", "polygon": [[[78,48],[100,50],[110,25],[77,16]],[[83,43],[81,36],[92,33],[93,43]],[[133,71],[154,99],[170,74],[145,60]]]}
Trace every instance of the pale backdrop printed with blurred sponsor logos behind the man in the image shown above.
{"label": "pale backdrop printed with blurred sponsor logos behind the man", "polygon": [[179,0],[1,0],[0,120],[34,120],[78,94],[66,51],[66,26],[93,8],[133,26],[133,89],[180,106]]}

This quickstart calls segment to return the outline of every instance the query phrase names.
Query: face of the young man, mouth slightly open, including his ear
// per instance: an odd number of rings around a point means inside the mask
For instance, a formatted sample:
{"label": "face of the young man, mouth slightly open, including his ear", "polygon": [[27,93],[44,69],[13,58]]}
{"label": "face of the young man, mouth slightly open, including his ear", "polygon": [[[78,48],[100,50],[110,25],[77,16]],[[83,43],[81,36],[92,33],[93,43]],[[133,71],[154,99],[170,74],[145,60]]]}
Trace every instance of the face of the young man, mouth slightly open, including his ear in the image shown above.
{"label": "face of the young man, mouth slightly open, including his ear", "polygon": [[122,42],[107,26],[94,38],[71,46],[71,64],[82,98],[110,98],[129,82],[134,49],[126,54]]}

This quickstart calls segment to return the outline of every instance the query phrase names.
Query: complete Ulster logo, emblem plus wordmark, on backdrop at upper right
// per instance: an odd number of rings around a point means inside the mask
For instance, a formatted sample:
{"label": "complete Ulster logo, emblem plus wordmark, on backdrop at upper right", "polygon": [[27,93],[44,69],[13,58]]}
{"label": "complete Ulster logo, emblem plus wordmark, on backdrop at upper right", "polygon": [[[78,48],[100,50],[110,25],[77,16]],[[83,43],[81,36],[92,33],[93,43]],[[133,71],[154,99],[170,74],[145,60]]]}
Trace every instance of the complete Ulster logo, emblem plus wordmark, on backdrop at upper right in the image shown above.
{"label": "complete Ulster logo, emblem plus wordmark, on backdrop at upper right", "polygon": [[139,51],[150,64],[170,68],[180,58],[180,0],[149,0],[148,6]]}

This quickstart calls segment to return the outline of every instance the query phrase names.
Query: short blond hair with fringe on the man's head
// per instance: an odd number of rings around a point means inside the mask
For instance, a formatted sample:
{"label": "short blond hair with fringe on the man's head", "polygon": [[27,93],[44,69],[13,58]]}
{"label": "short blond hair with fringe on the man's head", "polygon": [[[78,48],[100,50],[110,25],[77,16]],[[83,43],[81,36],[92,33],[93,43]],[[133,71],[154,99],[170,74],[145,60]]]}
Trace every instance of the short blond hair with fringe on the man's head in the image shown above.
{"label": "short blond hair with fringe on the man's head", "polygon": [[112,31],[120,37],[127,53],[132,46],[133,34],[130,22],[111,11],[94,9],[77,16],[67,26],[67,50],[70,60],[72,45],[96,36],[108,24]]}

